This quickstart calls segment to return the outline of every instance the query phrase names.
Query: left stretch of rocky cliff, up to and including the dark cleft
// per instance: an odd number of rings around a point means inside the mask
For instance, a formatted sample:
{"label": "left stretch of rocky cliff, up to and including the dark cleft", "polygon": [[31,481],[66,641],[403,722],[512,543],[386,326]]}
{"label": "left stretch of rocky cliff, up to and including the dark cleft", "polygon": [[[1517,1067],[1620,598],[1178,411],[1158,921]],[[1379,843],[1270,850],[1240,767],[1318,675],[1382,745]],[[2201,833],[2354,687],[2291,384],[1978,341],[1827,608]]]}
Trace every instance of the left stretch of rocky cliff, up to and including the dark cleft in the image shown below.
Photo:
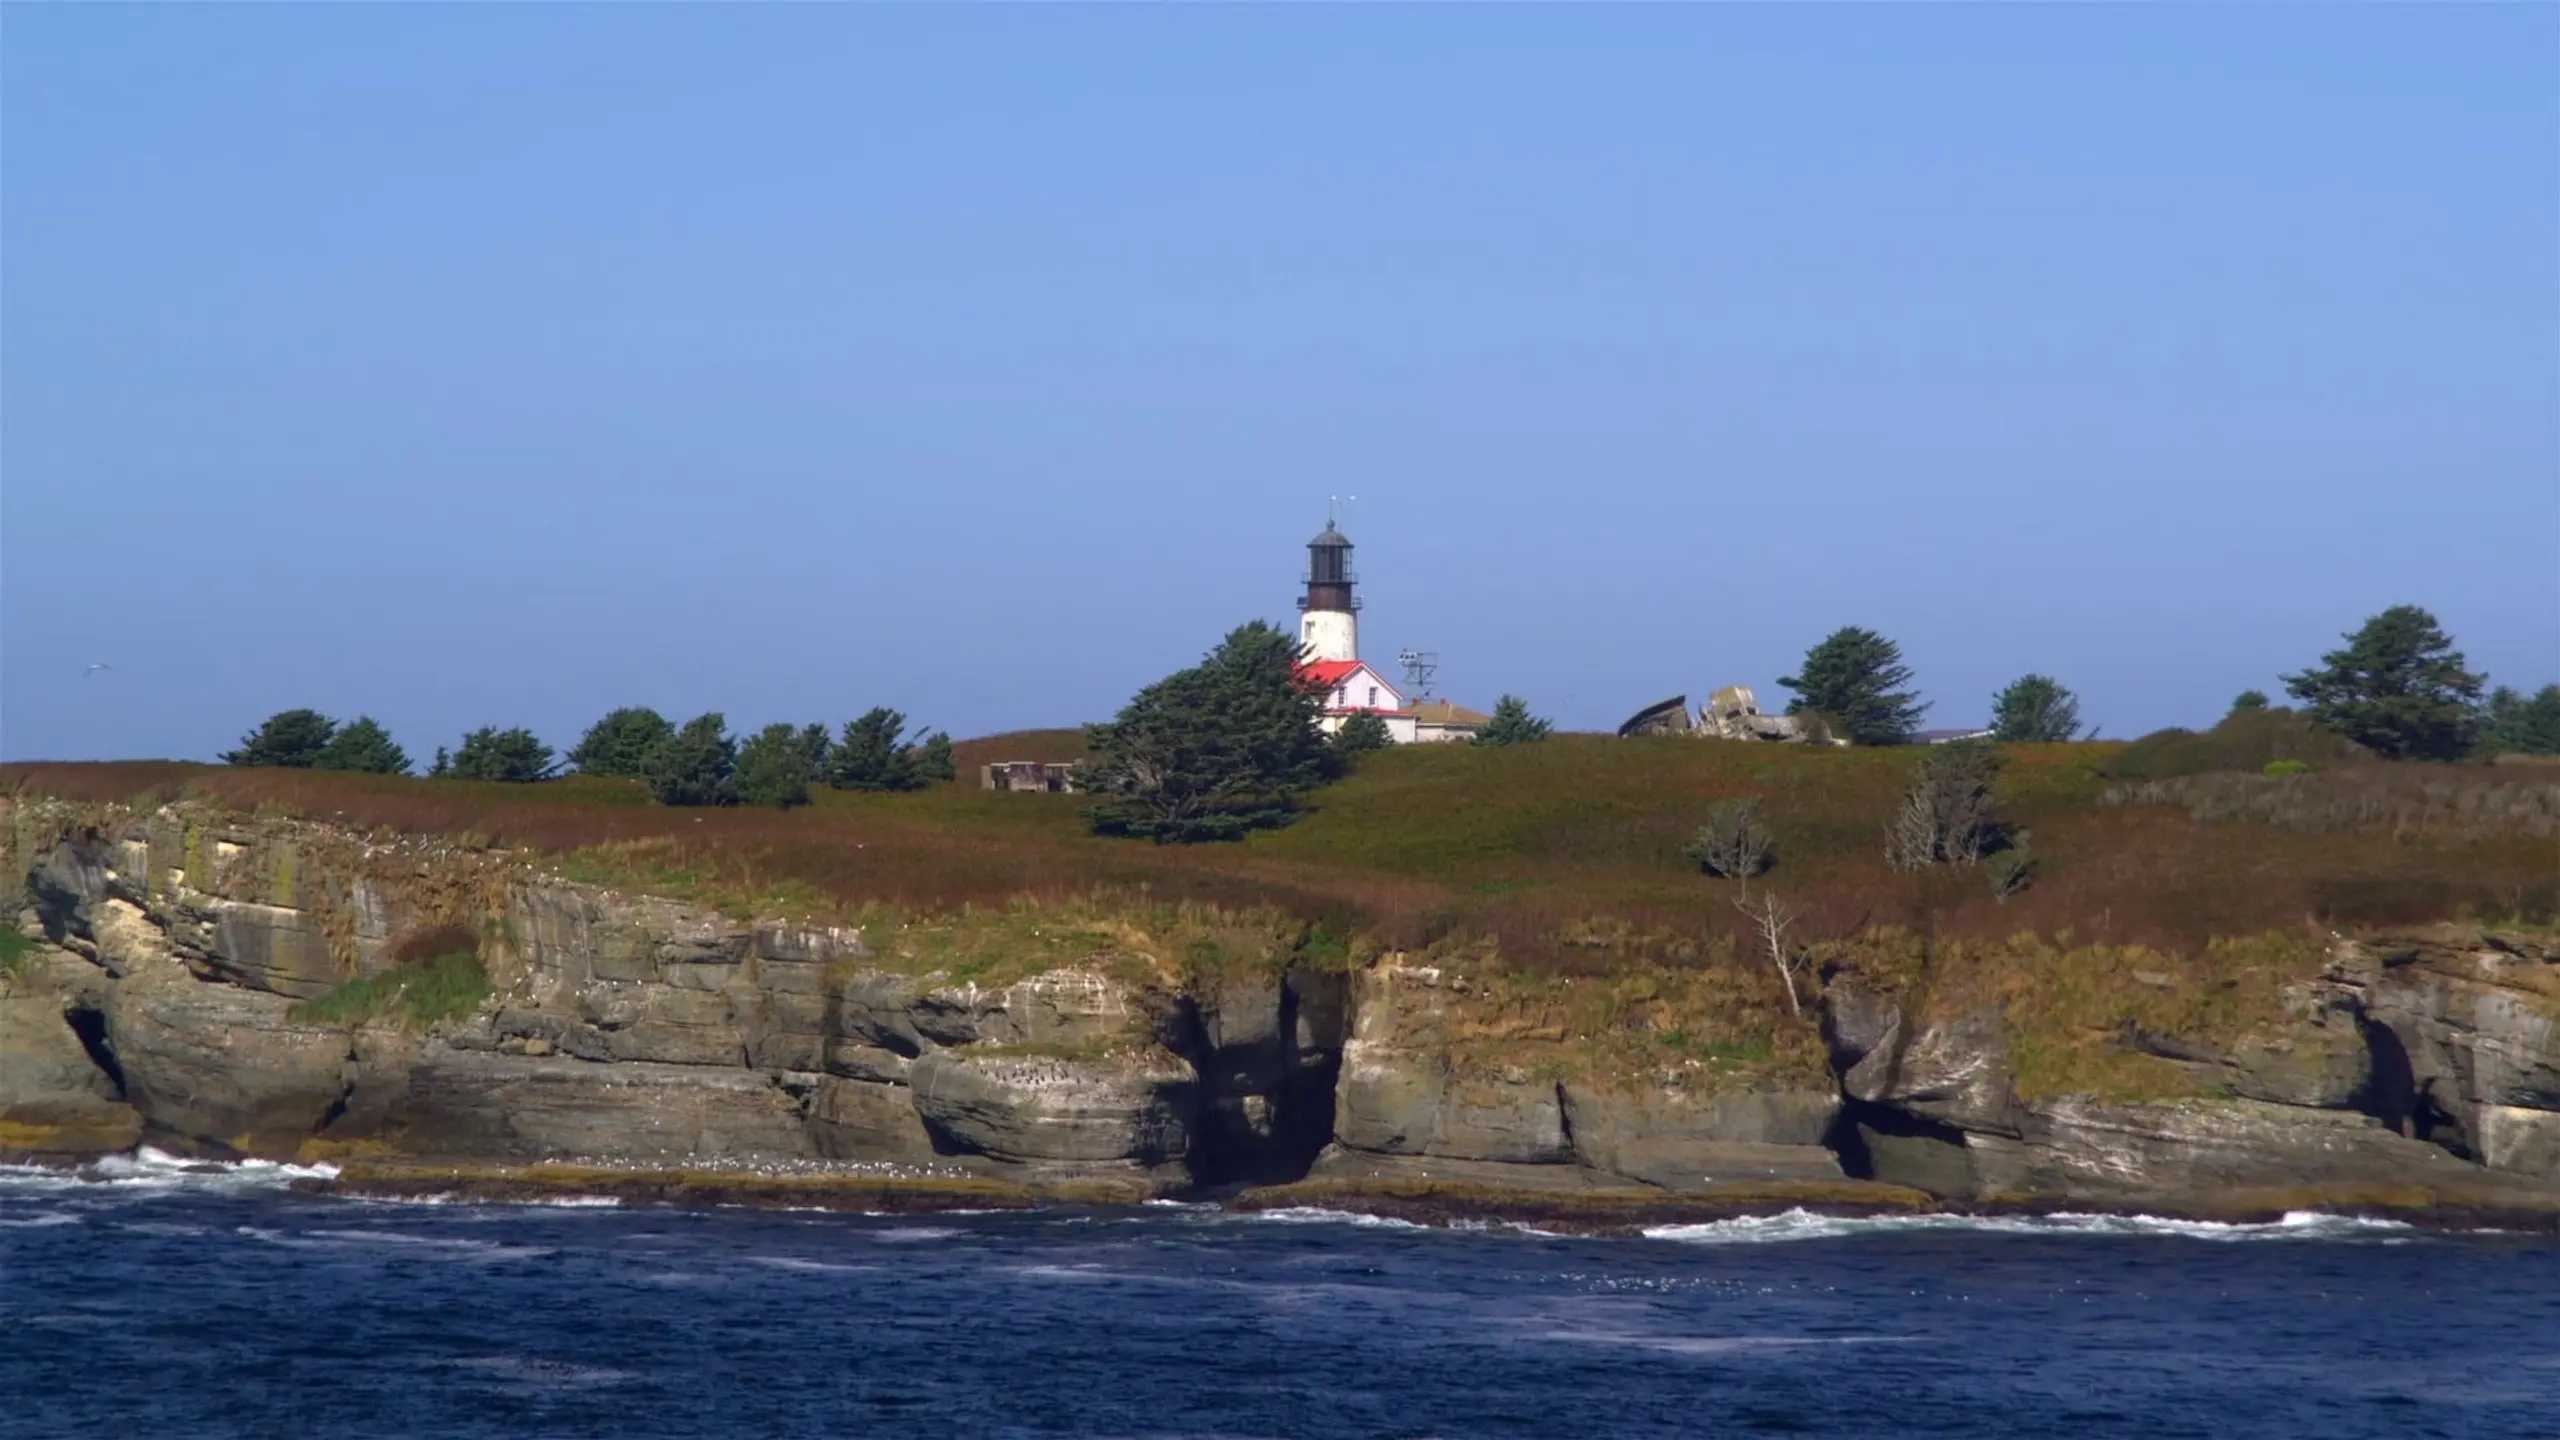
{"label": "left stretch of rocky cliff, up to and including the dark cleft", "polygon": [[[1147,935],[1070,925],[1057,963],[1027,940],[1027,974],[968,981],[896,933],[748,925],[468,848],[179,812],[59,835],[64,820],[10,815],[46,938],[0,999],[13,1150],[148,1135],[274,1158],[1188,1184],[1303,1168],[1331,1122],[1331,974],[1262,963],[1185,986]],[[492,979],[468,1017],[297,1017],[389,974],[399,935],[456,925]]]}

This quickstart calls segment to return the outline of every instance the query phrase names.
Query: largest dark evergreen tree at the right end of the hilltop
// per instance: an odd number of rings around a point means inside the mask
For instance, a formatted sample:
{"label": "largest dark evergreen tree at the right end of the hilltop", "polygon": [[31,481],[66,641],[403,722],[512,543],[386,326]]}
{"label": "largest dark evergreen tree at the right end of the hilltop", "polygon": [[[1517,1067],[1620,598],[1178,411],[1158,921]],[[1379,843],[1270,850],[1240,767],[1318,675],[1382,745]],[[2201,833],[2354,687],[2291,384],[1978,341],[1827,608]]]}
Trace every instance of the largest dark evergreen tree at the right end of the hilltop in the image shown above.
{"label": "largest dark evergreen tree at the right end of the hilltop", "polygon": [[2452,761],[2481,728],[2481,676],[2417,605],[2394,605],[2319,666],[2284,676],[2312,720],[2391,758]]}

